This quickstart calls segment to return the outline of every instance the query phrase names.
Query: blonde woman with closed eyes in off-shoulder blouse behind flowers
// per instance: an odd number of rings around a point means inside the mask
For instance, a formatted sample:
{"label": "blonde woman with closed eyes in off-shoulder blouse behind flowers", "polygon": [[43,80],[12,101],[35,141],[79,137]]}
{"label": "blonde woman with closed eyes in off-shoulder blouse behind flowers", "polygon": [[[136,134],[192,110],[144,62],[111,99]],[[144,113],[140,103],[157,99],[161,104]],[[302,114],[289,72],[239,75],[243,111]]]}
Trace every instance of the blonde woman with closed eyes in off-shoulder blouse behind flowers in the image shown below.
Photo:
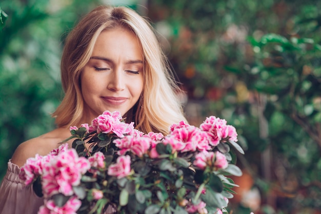
{"label": "blonde woman with closed eyes in off-shoulder blouse behind flowers", "polygon": [[37,212],[43,199],[24,187],[20,167],[57,148],[71,125],[117,110],[136,129],[166,135],[171,124],[185,120],[156,36],[131,9],[101,6],[87,14],[67,37],[61,75],[65,97],[53,113],[57,129],[17,147],[0,189],[0,213]]}

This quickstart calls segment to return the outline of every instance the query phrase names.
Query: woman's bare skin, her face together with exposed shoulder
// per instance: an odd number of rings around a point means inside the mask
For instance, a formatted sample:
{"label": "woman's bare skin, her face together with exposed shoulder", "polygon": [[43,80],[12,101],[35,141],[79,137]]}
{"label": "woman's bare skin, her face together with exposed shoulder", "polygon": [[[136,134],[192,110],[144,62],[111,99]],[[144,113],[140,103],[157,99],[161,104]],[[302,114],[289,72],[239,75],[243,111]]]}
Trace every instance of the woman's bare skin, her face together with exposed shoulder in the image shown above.
{"label": "woman's bare skin, her face together with exposed shoulder", "polygon": [[[104,111],[124,115],[143,91],[143,54],[136,36],[122,28],[103,31],[97,38],[90,60],[81,74],[85,114],[81,123],[89,123]],[[59,142],[70,137],[69,127],[59,127],[20,144],[11,162],[23,166],[36,154],[45,156]],[[73,140],[69,140],[69,147]]]}

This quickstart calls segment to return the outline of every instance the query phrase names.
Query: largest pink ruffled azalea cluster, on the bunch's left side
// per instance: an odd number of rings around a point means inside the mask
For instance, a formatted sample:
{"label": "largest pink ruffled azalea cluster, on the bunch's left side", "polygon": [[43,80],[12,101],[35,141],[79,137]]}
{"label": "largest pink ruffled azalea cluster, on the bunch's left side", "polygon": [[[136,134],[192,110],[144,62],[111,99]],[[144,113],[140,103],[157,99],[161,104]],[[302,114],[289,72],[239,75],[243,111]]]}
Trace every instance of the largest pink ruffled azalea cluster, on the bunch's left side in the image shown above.
{"label": "largest pink ruffled azalea cluster, on the bunch's left side", "polygon": [[71,196],[72,186],[80,183],[81,177],[90,168],[89,161],[78,157],[75,149],[52,156],[53,158],[43,165],[43,193],[50,197],[58,192]]}

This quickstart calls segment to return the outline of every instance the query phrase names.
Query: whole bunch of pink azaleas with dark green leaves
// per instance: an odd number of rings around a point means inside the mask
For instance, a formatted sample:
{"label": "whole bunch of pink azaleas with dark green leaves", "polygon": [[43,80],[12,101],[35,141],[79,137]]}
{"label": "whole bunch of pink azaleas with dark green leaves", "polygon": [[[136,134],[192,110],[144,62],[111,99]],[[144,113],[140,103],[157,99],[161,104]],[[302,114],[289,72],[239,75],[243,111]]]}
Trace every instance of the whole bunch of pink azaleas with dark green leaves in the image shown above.
{"label": "whole bunch of pink azaleas with dark green leaves", "polygon": [[[29,158],[20,177],[44,205],[38,213],[222,213],[237,186],[237,133],[226,120],[180,122],[144,134],[119,112],[70,127],[72,148]],[[63,142],[63,143],[64,143]],[[232,149],[230,149],[232,148]]]}

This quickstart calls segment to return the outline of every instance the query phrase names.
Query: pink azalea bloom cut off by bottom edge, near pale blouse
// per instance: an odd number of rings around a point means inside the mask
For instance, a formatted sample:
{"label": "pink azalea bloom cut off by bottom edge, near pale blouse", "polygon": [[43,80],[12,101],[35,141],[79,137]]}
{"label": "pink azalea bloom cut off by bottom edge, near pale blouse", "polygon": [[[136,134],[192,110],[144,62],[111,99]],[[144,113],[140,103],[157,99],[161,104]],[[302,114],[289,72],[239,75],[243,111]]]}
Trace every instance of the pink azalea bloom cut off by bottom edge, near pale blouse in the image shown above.
{"label": "pink azalea bloom cut off by bottom edge, near pale blouse", "polygon": [[56,206],[53,200],[49,200],[39,208],[38,214],[76,214],[82,202],[76,197],[69,199],[62,207]]}

